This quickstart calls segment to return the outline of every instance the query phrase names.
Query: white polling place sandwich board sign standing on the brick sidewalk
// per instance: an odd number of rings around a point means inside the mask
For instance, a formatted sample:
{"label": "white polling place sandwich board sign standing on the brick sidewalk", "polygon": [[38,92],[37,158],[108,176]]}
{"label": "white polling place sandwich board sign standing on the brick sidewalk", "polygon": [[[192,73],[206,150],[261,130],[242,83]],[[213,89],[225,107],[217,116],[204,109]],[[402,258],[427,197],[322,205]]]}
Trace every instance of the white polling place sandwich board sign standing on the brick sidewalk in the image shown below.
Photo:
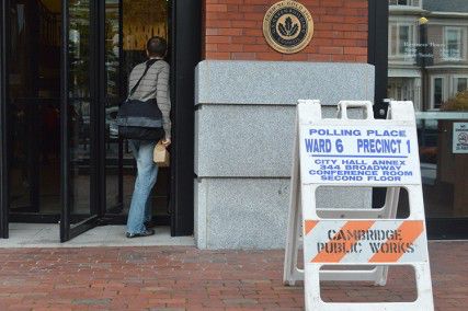
{"label": "white polling place sandwich board sign standing on the brick sidewalk", "polygon": [[[364,119],[350,119],[349,108],[362,108]],[[284,283],[305,280],[306,310],[433,310],[412,102],[391,102],[388,118],[374,119],[370,102],[342,101],[338,118],[328,119],[319,101],[299,101],[295,131]],[[317,206],[321,186],[387,187],[387,196],[379,209],[328,209]],[[407,219],[397,219],[401,187],[409,193]],[[304,269],[297,266],[300,244]],[[385,286],[388,267],[398,265],[414,267],[419,297],[413,302],[320,298],[320,280]]]}

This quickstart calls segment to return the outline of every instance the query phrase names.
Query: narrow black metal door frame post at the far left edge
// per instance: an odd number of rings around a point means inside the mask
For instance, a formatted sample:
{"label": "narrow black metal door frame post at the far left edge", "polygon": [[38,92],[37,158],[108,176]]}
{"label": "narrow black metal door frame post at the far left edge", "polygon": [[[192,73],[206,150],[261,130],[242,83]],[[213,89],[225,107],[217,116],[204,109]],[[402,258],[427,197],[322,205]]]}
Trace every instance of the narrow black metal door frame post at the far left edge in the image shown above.
{"label": "narrow black metal door frame post at the far left edge", "polygon": [[8,185],[8,42],[10,1],[0,1],[0,239],[9,237],[9,185]]}

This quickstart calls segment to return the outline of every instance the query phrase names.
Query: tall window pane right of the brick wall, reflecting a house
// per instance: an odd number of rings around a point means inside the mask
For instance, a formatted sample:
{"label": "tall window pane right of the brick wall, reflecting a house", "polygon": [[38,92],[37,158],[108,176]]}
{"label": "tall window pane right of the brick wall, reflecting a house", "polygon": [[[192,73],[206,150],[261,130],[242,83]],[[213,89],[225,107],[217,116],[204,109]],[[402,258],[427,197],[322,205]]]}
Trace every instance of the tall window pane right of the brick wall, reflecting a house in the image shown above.
{"label": "tall window pane right of the brick wall, reflecting a house", "polygon": [[389,3],[388,96],[419,112],[426,216],[468,217],[468,1]]}

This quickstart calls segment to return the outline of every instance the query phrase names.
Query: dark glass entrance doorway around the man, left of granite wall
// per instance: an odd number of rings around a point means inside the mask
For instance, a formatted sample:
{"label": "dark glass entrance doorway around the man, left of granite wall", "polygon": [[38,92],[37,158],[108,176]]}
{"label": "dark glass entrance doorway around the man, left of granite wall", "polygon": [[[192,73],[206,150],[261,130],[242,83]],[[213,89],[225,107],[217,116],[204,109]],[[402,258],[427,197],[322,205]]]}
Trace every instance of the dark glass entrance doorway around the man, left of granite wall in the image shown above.
{"label": "dark glass entrance doorway around the man, left of granite wall", "polygon": [[[192,210],[180,208],[185,200],[176,195],[182,189],[191,194],[184,177],[178,177],[193,174],[180,164],[193,163],[193,152],[189,159],[178,152],[184,149],[178,142],[190,138],[178,119],[190,112],[178,100],[186,97],[180,95],[181,88],[193,89],[193,78],[178,77],[193,71],[199,41],[189,47],[193,55],[183,56],[174,51],[186,44],[173,38],[184,36],[186,22],[199,23],[199,15],[192,13],[174,27],[182,9],[186,15],[187,9],[199,10],[199,3],[182,8],[167,0],[3,0],[2,5],[8,12],[2,16],[7,57],[1,64],[1,105],[8,118],[2,124],[8,168],[2,172],[2,235],[8,237],[12,221],[60,222],[62,242],[99,224],[125,223],[136,168],[113,120],[127,94],[128,73],[145,60],[146,41],[153,35],[167,38],[171,47],[167,60],[174,126],[173,165],[160,170],[151,198],[153,216],[158,224],[171,226],[172,235],[190,234],[193,221],[186,220],[193,219],[193,203]],[[193,97],[193,91],[189,95]],[[191,135],[193,141],[193,130]]]}

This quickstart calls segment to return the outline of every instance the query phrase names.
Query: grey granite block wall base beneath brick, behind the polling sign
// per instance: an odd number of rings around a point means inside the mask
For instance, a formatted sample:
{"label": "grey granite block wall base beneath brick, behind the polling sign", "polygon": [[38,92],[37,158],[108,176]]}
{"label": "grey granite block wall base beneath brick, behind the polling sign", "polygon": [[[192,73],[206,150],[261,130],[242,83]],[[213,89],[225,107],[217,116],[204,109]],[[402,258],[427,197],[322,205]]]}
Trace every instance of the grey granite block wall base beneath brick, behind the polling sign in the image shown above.
{"label": "grey granite block wall base beneath brick, behind the polling sign", "polygon": [[[196,69],[195,240],[199,249],[283,249],[297,100],[374,96],[366,64],[203,61]],[[361,110],[352,110],[358,118]],[[327,188],[318,207],[370,208],[372,191]]]}

